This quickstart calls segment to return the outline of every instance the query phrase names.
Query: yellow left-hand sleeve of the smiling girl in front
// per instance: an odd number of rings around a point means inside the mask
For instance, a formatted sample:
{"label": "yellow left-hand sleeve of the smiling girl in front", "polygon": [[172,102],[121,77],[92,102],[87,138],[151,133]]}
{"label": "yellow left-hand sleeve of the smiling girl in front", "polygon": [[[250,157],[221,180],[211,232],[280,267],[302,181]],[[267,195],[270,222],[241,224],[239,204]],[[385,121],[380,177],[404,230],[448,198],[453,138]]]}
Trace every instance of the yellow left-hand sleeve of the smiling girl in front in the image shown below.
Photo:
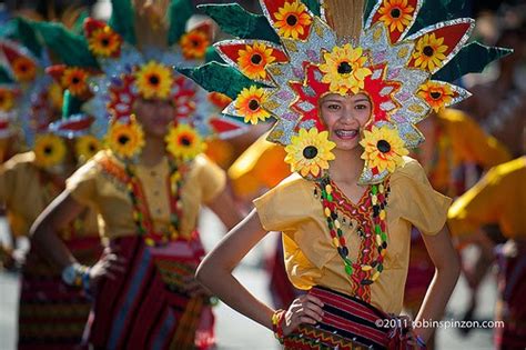
{"label": "yellow left-hand sleeve of the smiling girl in front", "polygon": [[301,186],[301,181],[307,180],[292,174],[253,201],[265,230],[292,231],[300,221],[305,220],[302,202],[306,202],[304,199],[310,192],[305,186]]}

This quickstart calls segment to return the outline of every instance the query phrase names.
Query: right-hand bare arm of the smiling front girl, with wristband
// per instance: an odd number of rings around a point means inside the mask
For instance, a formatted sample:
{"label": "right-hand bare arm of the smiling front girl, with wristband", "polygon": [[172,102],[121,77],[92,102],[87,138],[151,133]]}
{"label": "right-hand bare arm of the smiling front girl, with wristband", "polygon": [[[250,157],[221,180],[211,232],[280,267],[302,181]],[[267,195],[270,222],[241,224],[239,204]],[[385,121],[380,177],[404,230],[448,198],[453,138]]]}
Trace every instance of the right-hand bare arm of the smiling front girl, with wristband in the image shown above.
{"label": "right-hand bare arm of the smiling front girl, with wristband", "polygon": [[[458,253],[453,247],[447,226],[435,236],[422,234],[429,258],[435,264],[435,276],[424,298],[424,302],[415,319],[422,321],[439,321],[444,314],[447,301],[461,274]],[[418,322],[419,321],[419,322]],[[415,332],[427,341],[433,328],[416,328]]]}

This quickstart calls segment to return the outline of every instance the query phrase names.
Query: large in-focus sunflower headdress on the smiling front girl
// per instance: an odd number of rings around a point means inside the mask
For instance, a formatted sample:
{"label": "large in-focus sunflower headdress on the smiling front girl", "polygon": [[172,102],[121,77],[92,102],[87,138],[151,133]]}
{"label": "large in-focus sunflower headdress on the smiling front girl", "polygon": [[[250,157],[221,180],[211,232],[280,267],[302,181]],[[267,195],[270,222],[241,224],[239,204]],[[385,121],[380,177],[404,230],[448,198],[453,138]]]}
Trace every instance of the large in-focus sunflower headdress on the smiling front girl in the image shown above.
{"label": "large in-focus sunflower headdress on the smiling front girl", "polygon": [[[204,11],[240,39],[215,49],[227,64],[211,62],[181,72],[234,101],[223,111],[256,122],[277,119],[269,140],[286,146],[285,161],[308,179],[323,176],[334,143],[320,119],[326,93],[368,96],[371,121],[361,144],[361,183],[380,183],[423,140],[415,124],[431,109],[469,93],[451,84],[479,72],[509,50],[466,44],[474,20],[456,18],[461,1],[260,0],[264,16],[237,4]],[[365,21],[362,21],[365,18]]]}

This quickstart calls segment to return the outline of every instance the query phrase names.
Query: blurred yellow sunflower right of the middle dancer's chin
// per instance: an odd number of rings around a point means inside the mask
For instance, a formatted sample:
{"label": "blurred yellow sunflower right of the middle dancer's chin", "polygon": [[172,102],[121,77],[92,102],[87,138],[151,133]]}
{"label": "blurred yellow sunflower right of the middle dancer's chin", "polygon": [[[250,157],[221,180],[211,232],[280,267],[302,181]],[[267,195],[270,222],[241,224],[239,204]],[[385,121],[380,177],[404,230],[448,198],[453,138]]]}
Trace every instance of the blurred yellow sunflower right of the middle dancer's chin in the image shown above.
{"label": "blurred yellow sunflower right of the middle dancer's chin", "polygon": [[166,142],[166,150],[175,159],[182,160],[194,159],[206,148],[195,129],[183,123],[179,123],[176,128],[170,128],[164,141]]}

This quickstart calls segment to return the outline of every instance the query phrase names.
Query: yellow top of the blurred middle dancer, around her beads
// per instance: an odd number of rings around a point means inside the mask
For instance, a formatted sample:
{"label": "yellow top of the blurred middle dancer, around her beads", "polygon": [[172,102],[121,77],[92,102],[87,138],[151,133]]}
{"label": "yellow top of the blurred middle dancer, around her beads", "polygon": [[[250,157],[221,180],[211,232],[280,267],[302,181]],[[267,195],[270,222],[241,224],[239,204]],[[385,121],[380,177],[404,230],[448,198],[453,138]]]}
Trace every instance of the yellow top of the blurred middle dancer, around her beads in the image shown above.
{"label": "yellow top of the blurred middle dancer, around her beads", "polygon": [[[103,170],[100,164],[103,159],[110,159],[112,163],[123,167],[111,151],[101,151],[68,179],[67,189],[78,202],[90,206],[99,212],[100,231],[104,238],[136,234],[128,190]],[[154,167],[135,166],[135,173],[142,183],[150,216],[158,232],[168,230],[170,226],[170,203],[165,181],[169,168],[165,158]],[[201,204],[213,200],[224,189],[225,181],[224,171],[206,157],[199,156],[194,159],[184,176],[181,189],[182,237],[189,237],[195,230]]]}

